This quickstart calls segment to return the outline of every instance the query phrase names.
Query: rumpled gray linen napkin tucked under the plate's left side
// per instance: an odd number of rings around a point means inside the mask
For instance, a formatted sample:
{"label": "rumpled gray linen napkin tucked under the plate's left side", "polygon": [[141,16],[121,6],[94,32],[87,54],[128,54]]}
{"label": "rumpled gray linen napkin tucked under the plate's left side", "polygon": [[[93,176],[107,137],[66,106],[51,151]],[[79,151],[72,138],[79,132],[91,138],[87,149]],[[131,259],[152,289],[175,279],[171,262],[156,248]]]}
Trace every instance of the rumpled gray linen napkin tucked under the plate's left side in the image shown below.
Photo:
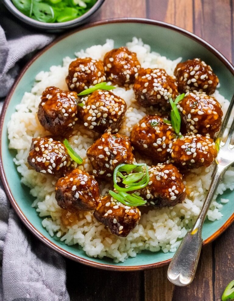
{"label": "rumpled gray linen napkin tucked under the plate's left side", "polygon": [[[54,36],[30,31],[0,3],[0,97],[19,73],[19,60]],[[5,31],[5,32],[4,32]],[[2,102],[0,102],[0,112]],[[69,301],[64,258],[36,239],[10,208],[0,182],[0,301]]]}

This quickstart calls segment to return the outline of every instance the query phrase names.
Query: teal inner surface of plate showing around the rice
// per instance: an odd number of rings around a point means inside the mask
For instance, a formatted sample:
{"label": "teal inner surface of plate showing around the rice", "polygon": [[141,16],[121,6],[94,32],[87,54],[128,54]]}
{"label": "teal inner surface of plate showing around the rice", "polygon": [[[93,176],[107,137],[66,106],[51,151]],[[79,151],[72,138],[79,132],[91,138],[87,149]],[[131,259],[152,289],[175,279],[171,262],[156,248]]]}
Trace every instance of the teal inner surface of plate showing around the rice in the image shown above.
{"label": "teal inner surface of plate showing around the rice", "polygon": [[[183,60],[189,58],[201,58],[212,66],[214,72],[218,75],[220,80],[219,91],[228,100],[232,98],[233,91],[230,87],[234,86],[234,76],[232,72],[225,66],[223,62],[204,45],[198,43],[192,38],[175,31],[168,27],[161,26],[160,24],[151,24],[143,22],[129,22],[122,21],[117,23],[99,24],[97,26],[88,27],[83,30],[77,31],[69,36],[64,37],[62,40],[53,44],[46,51],[41,53],[39,57],[27,68],[23,76],[20,78],[16,85],[11,97],[9,105],[5,112],[5,118],[2,127],[2,165],[5,172],[5,178],[8,182],[9,189],[12,197],[15,199],[18,207],[22,211],[27,220],[36,228],[48,242],[58,246],[65,252],[72,253],[75,257],[81,257],[89,260],[88,264],[102,264],[109,265],[106,268],[132,268],[134,266],[157,264],[164,260],[168,260],[173,256],[173,253],[151,253],[143,251],[135,258],[129,258],[124,263],[115,264],[111,259],[98,259],[88,257],[79,246],[67,246],[65,243],[59,241],[55,237],[51,237],[48,232],[41,225],[41,218],[37,215],[31,204],[34,198],[29,194],[29,189],[20,183],[20,175],[16,171],[12,159],[15,152],[8,149],[7,138],[7,123],[13,112],[15,106],[21,101],[25,91],[30,91],[34,83],[34,78],[41,70],[49,70],[52,65],[59,65],[62,63],[62,58],[65,56],[75,57],[74,52],[82,48],[90,47],[94,44],[104,44],[107,38],[115,40],[115,47],[122,46],[126,42],[131,41],[132,37],[136,36],[142,38],[144,43],[151,45],[151,50],[165,55],[170,59],[182,57]],[[234,193],[227,190],[222,198],[232,199]],[[218,199],[219,200],[219,199]],[[208,239],[216,231],[218,231],[226,221],[233,214],[232,203],[224,204],[221,209],[223,217],[220,220],[210,222],[206,221],[202,231],[203,239]],[[67,254],[68,255],[68,254]]]}

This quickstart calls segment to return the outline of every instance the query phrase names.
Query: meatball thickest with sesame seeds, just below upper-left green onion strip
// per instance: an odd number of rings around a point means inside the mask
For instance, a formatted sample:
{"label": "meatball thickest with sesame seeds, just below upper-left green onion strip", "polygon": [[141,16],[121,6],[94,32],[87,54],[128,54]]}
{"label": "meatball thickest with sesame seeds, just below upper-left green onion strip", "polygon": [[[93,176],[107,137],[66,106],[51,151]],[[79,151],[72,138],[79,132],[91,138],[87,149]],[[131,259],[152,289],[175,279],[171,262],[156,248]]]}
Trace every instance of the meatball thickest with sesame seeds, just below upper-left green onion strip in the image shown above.
{"label": "meatball thickest with sesame seeds, just below upper-left green onion strip", "polygon": [[126,112],[125,101],[110,91],[94,91],[81,99],[79,115],[84,125],[96,132],[118,132]]}

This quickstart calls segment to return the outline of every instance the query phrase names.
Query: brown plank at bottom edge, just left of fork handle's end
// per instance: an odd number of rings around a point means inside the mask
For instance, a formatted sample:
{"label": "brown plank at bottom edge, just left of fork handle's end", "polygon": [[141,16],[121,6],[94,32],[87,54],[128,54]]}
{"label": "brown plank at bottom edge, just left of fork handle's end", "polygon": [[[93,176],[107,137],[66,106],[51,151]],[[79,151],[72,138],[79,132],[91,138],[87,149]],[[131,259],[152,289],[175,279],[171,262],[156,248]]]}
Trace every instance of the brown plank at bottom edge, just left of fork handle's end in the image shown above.
{"label": "brown plank at bottom edge, just left of fork handle's end", "polygon": [[172,300],[175,285],[167,279],[167,268],[145,271],[145,301]]}

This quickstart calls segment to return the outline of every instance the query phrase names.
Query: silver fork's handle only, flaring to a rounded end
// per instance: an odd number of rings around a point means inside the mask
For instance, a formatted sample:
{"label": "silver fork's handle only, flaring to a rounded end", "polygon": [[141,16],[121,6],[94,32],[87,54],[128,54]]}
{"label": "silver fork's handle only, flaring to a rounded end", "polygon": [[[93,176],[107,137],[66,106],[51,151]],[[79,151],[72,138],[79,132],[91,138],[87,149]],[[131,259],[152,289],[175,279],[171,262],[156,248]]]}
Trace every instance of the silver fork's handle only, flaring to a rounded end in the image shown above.
{"label": "silver fork's handle only, flaring to a rounded end", "polygon": [[197,221],[193,229],[185,235],[169,264],[167,277],[175,285],[185,286],[193,281],[203,241],[202,226],[223,172],[224,169],[218,165]]}

